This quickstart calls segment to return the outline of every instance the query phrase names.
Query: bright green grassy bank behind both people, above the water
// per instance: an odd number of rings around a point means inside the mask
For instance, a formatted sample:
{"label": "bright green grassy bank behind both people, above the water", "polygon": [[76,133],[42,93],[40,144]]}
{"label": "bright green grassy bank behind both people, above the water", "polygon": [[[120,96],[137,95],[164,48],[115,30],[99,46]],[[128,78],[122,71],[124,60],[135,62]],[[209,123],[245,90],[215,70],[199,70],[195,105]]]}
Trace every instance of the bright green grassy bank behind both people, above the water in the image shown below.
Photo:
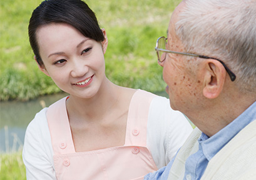
{"label": "bright green grassy bank behind both people, above the water", "polygon": [[[28,40],[28,21],[41,0],[0,1],[0,100],[29,100],[58,93],[51,78],[38,70]],[[178,0],[86,1],[106,29],[106,75],[126,87],[161,91],[165,83],[156,63],[155,42],[166,35]]]}

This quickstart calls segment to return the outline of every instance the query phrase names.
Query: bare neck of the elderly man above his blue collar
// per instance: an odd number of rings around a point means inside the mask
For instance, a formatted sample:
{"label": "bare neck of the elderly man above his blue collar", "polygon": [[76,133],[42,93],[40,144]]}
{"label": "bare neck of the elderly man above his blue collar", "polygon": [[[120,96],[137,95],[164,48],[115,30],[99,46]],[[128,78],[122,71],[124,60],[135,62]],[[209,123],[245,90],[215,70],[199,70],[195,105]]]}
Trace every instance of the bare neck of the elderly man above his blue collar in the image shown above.
{"label": "bare neck of the elderly man above his blue collar", "polygon": [[213,136],[247,110],[256,101],[255,94],[236,92],[225,98],[219,98],[215,100],[216,103],[211,102],[209,105],[205,105],[198,115],[188,116],[188,118],[203,133]]}

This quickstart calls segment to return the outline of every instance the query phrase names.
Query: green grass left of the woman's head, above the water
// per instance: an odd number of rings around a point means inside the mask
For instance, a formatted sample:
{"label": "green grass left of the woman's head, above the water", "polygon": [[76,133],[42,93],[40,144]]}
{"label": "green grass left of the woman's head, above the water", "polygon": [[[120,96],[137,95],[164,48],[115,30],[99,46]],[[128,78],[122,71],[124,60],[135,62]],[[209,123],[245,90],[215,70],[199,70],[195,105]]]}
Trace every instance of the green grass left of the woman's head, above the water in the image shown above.
{"label": "green grass left of the woman's head, above the water", "polygon": [[0,1],[0,100],[29,100],[59,92],[37,70],[28,41],[28,22],[41,1]]}

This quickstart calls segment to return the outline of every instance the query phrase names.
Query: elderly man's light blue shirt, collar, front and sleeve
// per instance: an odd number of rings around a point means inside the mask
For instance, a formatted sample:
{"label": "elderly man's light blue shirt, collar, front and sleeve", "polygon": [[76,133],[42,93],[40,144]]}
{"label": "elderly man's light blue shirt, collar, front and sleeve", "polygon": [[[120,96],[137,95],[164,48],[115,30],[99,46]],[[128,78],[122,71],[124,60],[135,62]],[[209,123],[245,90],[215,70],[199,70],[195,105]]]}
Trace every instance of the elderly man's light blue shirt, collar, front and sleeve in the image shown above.
{"label": "elderly man's light blue shirt, collar, front and sleeve", "polygon": [[[253,120],[256,120],[256,102],[212,137],[209,138],[205,133],[202,133],[200,138],[198,138],[199,147],[197,153],[190,155],[186,160],[185,176],[183,180],[197,180],[202,178],[210,159]],[[174,159],[175,158],[173,158],[167,166],[159,169],[155,173],[147,174],[145,179],[166,180]]]}

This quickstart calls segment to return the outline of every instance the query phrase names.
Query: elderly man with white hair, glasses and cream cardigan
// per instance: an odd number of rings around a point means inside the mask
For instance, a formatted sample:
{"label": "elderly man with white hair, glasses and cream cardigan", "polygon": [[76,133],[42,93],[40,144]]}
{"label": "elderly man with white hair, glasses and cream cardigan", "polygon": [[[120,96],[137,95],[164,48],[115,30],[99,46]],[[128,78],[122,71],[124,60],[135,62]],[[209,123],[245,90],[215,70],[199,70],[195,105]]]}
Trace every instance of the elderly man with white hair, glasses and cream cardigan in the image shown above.
{"label": "elderly man with white hair, glasses and cream cardigan", "polygon": [[256,1],[181,2],[156,52],[171,107],[197,128],[145,179],[256,179]]}

